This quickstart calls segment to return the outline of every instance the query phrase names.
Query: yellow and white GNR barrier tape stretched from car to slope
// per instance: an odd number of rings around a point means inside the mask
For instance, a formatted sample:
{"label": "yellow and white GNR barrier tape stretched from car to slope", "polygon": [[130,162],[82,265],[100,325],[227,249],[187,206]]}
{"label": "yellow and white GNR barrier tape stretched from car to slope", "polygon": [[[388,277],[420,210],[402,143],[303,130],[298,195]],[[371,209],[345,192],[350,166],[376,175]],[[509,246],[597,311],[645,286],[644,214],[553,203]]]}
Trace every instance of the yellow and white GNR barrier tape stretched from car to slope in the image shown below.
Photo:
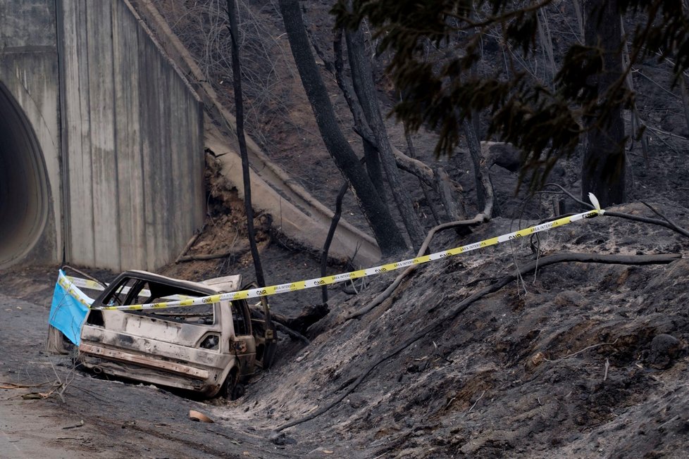
{"label": "yellow and white GNR barrier tape stretched from car to slope", "polygon": [[[595,218],[598,215],[602,215],[604,210],[600,208],[597,199],[592,194],[589,194],[589,198],[595,207],[594,210],[588,212],[578,213],[576,215],[571,215],[569,217],[559,218],[553,220],[552,222],[542,223],[541,225],[535,225],[533,227],[528,227],[523,230],[511,232],[509,234],[502,234],[502,236],[493,237],[491,239],[485,239],[484,241],[474,242],[473,244],[468,244],[466,246],[455,247],[454,249],[449,249],[447,251],[431,253],[430,255],[419,256],[416,258],[410,258],[409,260],[398,261],[397,263],[387,263],[385,265],[375,266],[373,268],[368,268],[365,270],[357,270],[352,272],[344,272],[342,274],[316,277],[315,279],[302,280],[298,282],[290,282],[289,284],[279,284],[272,285],[271,287],[259,287],[257,289],[232,291],[225,294],[216,294],[211,296],[201,296],[198,298],[184,298],[178,301],[164,301],[161,303],[146,303],[146,304],[135,304],[127,306],[99,306],[93,309],[97,310],[141,310],[141,309],[162,309],[162,308],[176,308],[179,306],[195,306],[199,304],[207,303],[218,303],[218,301],[232,301],[244,298],[257,298],[259,296],[268,296],[281,294],[288,291],[297,291],[303,289],[311,289],[314,287],[321,287],[328,284],[336,284],[338,282],[345,282],[350,279],[359,279],[360,277],[368,277],[376,274],[381,274],[383,272],[390,272],[398,270],[399,268],[406,268],[411,265],[422,265],[423,263],[428,263],[433,260],[442,260],[454,255],[459,255],[459,253],[466,253],[469,251],[483,249],[483,247],[493,246],[495,244],[500,244],[501,242],[511,241],[514,239],[519,239],[521,237],[530,236],[530,234],[535,234],[537,232],[551,230],[552,228],[557,228],[563,225],[567,225],[571,222],[576,222],[578,220],[583,220],[584,218]],[[98,288],[102,289],[101,286],[95,287],[97,284],[92,281],[86,281],[85,279],[72,278],[73,282],[79,283],[82,287],[87,288]],[[82,301],[82,303],[84,303]]]}

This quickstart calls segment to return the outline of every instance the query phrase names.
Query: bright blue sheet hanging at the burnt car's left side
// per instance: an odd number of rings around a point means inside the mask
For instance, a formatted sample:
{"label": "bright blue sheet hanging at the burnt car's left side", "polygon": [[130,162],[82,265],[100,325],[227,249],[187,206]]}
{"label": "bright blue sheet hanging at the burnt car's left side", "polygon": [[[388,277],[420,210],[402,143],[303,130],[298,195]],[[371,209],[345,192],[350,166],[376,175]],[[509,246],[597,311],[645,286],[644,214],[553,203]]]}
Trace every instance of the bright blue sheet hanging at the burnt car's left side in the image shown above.
{"label": "bright blue sheet hanging at the burnt car's left side", "polygon": [[88,305],[92,302],[93,300],[69,282],[65,273],[60,270],[48,323],[79,346],[81,326],[89,310]]}

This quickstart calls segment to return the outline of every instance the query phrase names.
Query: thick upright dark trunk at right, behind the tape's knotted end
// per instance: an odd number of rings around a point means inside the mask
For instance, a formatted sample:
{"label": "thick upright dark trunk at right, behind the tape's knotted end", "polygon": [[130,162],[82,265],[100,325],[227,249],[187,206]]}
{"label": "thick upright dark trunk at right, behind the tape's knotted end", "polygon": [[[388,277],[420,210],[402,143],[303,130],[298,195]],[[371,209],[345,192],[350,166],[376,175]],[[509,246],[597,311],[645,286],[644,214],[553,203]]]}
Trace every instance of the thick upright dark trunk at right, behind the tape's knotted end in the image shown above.
{"label": "thick upright dark trunk at right, behind the tape's knotted end", "polygon": [[[584,1],[586,46],[602,49],[603,70],[597,77],[598,94],[605,98],[622,75],[621,22],[618,0]],[[607,101],[599,101],[601,106]],[[581,170],[581,194],[597,196],[601,206],[625,201],[625,153],[622,106],[612,104],[604,118],[588,126],[587,145]]]}

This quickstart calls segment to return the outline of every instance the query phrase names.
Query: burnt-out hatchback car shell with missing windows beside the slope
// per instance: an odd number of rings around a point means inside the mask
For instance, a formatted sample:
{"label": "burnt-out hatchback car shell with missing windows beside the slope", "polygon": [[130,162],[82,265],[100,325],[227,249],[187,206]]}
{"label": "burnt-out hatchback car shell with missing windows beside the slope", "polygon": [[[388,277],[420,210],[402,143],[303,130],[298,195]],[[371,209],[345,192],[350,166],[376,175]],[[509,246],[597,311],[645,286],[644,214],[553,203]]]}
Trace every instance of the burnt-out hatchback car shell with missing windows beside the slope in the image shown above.
{"label": "burnt-out hatchback car shell with missing windows beside the slope", "polygon": [[[94,300],[80,331],[78,360],[98,374],[237,398],[242,382],[275,355],[265,298],[261,318],[246,300],[147,310],[98,310],[240,290],[241,276],[187,282],[144,271],[120,274]],[[255,316],[256,314],[254,314]],[[51,327],[51,333],[54,329]],[[50,338],[49,338],[50,341]]]}

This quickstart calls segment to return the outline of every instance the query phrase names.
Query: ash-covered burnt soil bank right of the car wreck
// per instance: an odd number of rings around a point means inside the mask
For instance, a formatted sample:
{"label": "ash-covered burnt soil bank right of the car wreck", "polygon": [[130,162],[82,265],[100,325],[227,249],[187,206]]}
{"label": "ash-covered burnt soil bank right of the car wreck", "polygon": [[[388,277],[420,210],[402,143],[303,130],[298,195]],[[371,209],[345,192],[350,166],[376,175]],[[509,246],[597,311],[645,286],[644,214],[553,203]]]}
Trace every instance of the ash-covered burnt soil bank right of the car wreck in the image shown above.
{"label": "ash-covered burnt soil bank right of the car wreck", "polygon": [[[640,205],[619,210],[645,213]],[[502,234],[509,224],[494,220],[472,237]],[[540,237],[541,256],[686,256],[688,243],[608,217]],[[312,413],[444,310],[533,259],[521,241],[442,260],[361,320],[344,320],[391,280],[378,279],[335,306],[311,346],[252,386],[239,409],[216,410],[266,431]],[[332,410],[278,441],[367,458],[685,457],[688,281],[687,260],[532,272],[386,360]]]}

